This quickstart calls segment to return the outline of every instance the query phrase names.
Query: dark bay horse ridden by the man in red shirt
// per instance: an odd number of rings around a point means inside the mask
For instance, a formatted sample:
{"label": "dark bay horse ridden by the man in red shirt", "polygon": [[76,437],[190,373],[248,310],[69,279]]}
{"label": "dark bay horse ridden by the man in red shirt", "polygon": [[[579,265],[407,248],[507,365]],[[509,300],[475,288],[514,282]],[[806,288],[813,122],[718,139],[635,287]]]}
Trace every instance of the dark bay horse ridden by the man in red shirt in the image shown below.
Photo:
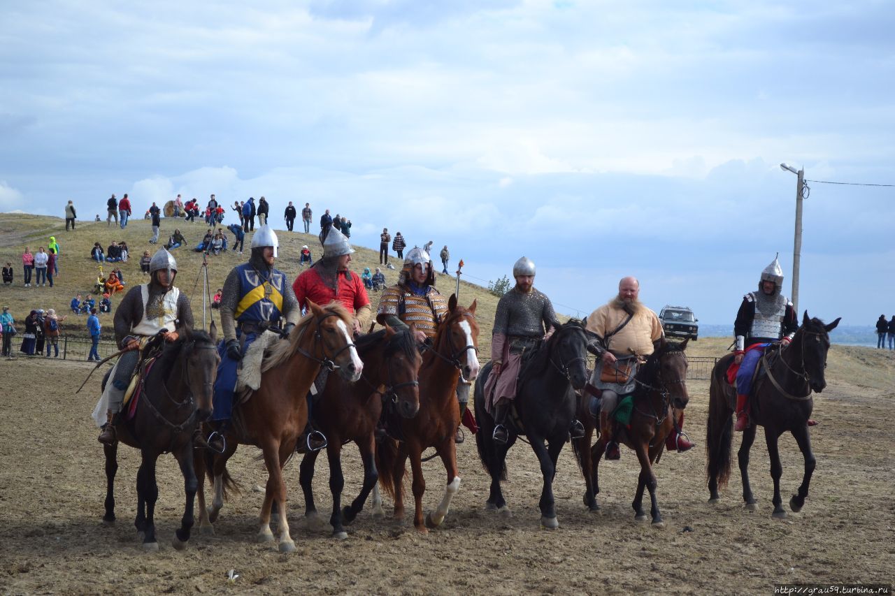
{"label": "dark bay horse ridden by the man in red shirt", "polygon": [[[406,419],[413,418],[420,409],[420,382],[417,375],[422,357],[413,339],[413,330],[395,331],[387,327],[376,333],[361,336],[357,351],[363,361],[361,381],[349,384],[335,375],[314,406],[314,422],[328,438],[329,489],[333,494],[333,511],[329,524],[333,537],[348,537],[345,524],[354,522],[361,512],[370,491],[376,486],[379,472],[374,461],[376,453],[376,423],[382,413],[382,400],[395,404]],[[342,475],[342,446],[354,441],[361,452],[363,483],[360,494],[351,507],[341,508],[345,479]],[[304,492],[304,515],[309,522],[317,517],[311,480],[319,452],[312,451],[302,459],[299,481]]]}

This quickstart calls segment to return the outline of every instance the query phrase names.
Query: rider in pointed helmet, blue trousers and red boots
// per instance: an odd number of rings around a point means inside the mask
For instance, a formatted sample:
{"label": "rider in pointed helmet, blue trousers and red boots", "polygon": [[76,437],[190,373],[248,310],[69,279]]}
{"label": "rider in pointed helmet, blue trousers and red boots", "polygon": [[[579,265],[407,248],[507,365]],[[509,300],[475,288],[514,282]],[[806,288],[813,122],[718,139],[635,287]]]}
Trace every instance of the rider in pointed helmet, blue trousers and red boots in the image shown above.
{"label": "rider in pointed helmet, blue trousers and red boots", "polygon": [[737,370],[737,432],[749,426],[749,415],[746,402],[752,388],[752,377],[755,367],[762,357],[764,348],[773,342],[787,346],[796,335],[798,319],[792,302],[780,294],[783,285],[783,270],[780,262],[774,257],[773,262],[762,271],[758,282],[758,292],[750,292],[743,296],[737,312],[737,320],[733,324],[734,335],[737,336],[736,356],[734,362],[739,364]]}

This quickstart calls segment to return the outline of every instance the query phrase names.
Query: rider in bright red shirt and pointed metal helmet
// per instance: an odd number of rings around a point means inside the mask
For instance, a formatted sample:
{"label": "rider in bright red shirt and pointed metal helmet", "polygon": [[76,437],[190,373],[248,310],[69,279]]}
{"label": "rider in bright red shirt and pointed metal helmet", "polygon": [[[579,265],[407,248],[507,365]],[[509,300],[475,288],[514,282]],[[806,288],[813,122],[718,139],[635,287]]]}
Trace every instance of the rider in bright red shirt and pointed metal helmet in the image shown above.
{"label": "rider in bright red shirt and pointed metal helmet", "polygon": [[[328,232],[321,235],[323,256],[295,278],[292,285],[295,298],[302,308],[307,307],[305,302],[308,300],[320,306],[339,302],[346,311],[354,313],[352,331],[354,336],[358,336],[370,322],[371,307],[361,277],[348,268],[354,249],[347,236],[335,227],[328,228]],[[314,396],[322,394],[323,387],[326,387],[328,373],[328,370],[320,370],[307,396],[308,428],[299,446],[306,446],[310,451],[318,451],[327,445],[323,433],[312,427],[311,411]]]}

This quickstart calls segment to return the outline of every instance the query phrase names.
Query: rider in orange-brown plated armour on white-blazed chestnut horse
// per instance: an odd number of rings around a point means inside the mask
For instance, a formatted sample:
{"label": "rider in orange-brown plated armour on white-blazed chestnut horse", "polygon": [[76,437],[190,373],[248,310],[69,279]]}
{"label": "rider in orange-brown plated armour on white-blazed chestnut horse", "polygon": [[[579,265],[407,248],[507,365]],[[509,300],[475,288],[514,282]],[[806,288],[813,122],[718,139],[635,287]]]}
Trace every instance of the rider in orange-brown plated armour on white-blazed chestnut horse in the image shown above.
{"label": "rider in orange-brown plated armour on white-blazed chestnut horse", "polygon": [[[447,300],[435,289],[435,271],[429,253],[414,246],[407,252],[397,284],[382,293],[376,321],[395,329],[406,329],[408,323],[413,323],[416,340],[422,344],[435,336],[445,315]],[[462,421],[469,402],[469,383],[462,375],[456,384],[456,399]],[[462,443],[463,440],[463,433],[457,428],[454,442]]]}

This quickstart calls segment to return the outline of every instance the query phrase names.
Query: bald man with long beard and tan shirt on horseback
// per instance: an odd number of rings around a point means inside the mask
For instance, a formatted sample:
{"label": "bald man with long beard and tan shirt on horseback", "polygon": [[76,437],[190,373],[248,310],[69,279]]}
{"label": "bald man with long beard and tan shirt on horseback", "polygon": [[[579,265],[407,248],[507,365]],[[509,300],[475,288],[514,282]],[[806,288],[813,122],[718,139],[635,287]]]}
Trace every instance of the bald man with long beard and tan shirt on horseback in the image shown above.
{"label": "bald man with long beard and tan shirt on horseback", "polygon": [[[593,371],[591,381],[602,390],[600,404],[600,431],[607,439],[606,458],[618,459],[618,443],[612,438],[612,423],[609,415],[618,405],[618,396],[634,391],[636,356],[652,354],[664,333],[659,316],[639,300],[640,282],[635,277],[622,277],[618,282],[618,295],[593,311],[587,318],[586,328],[603,337],[606,352],[601,366]],[[618,370],[628,374],[617,375]],[[609,380],[610,377],[615,377]],[[603,380],[607,379],[607,380]],[[675,431],[669,435],[665,447],[669,451],[683,452],[694,447],[680,429],[684,423],[684,413],[675,421]]]}

